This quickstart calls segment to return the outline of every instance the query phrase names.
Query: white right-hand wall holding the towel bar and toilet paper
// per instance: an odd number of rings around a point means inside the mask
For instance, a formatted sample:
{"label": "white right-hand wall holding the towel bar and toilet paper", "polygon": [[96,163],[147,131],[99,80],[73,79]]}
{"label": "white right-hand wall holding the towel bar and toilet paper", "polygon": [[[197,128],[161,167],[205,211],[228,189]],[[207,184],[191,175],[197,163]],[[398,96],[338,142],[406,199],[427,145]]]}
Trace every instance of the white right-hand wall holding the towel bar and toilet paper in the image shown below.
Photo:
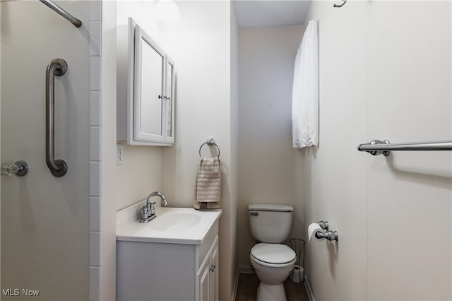
{"label": "white right-hand wall holding the towel bar and toilet paper", "polygon": [[451,2],[333,3],[313,1],[307,19],[319,20],[321,146],[299,158],[305,218],[339,232],[308,244],[314,295],[450,300],[451,153],[356,147],[451,139]]}

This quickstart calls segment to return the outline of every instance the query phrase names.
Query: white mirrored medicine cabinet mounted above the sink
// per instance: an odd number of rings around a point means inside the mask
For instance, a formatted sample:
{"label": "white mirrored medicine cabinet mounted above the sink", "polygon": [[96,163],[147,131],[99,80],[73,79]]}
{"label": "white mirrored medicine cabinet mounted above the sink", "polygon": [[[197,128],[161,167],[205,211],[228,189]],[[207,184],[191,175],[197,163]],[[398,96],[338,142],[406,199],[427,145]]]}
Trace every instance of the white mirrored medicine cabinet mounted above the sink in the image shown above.
{"label": "white mirrored medicine cabinet mounted above the sink", "polygon": [[117,27],[117,140],[174,143],[174,61],[132,18]]}

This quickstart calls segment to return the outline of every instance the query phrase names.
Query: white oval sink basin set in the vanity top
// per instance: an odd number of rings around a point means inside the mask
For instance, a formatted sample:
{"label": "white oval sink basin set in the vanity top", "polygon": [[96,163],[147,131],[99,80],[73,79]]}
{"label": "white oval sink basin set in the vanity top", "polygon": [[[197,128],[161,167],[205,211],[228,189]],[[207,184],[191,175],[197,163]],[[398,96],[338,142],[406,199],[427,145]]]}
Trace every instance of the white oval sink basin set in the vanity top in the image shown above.
{"label": "white oval sink basin set in the vanity top", "polygon": [[201,221],[194,213],[167,213],[149,222],[149,227],[157,231],[179,231],[192,228]]}

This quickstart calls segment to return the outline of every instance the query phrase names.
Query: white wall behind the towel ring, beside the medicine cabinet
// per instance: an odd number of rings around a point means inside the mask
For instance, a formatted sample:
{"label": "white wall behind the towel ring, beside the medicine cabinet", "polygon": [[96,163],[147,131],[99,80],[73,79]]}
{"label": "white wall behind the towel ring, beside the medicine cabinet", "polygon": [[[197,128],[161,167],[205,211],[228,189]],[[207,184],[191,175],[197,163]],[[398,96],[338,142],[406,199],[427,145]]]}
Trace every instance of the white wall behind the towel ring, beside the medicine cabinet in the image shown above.
{"label": "white wall behind the towel ring, beside the medicine cabinet", "polygon": [[[172,148],[162,148],[162,191],[171,206],[191,207],[199,148],[215,138],[220,148],[222,194],[219,232],[220,300],[230,300],[237,264],[237,169],[232,146],[229,1],[178,1],[181,19],[162,23],[162,46],[176,62],[176,120]],[[204,146],[201,155],[216,155]]]}

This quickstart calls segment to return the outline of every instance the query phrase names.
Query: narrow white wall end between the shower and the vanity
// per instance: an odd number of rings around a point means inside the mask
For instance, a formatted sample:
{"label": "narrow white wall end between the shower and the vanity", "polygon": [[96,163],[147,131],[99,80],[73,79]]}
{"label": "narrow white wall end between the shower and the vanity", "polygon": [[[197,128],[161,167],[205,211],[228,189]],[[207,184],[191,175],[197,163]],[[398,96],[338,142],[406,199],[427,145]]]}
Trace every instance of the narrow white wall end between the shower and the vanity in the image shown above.
{"label": "narrow white wall end between the shower and the vanity", "polygon": [[[116,285],[116,194],[114,164],[116,163],[116,4],[114,1],[90,1],[92,15],[100,22],[99,70],[92,66],[91,81],[100,82],[99,95],[92,97],[92,124],[100,127],[100,178],[91,177],[90,208],[90,301],[115,300]],[[93,26],[94,27],[94,26]],[[97,37],[97,33],[93,33]],[[100,42],[100,43],[99,43]],[[96,44],[95,42],[93,44]],[[97,78],[95,76],[98,76]],[[99,102],[97,102],[99,101]],[[93,118],[93,116],[95,118]],[[97,120],[99,118],[100,120]],[[93,143],[94,144],[94,143]],[[93,152],[92,144],[92,152]],[[92,155],[93,156],[93,155]],[[97,186],[95,183],[97,182]],[[99,231],[99,232],[96,232]]]}

